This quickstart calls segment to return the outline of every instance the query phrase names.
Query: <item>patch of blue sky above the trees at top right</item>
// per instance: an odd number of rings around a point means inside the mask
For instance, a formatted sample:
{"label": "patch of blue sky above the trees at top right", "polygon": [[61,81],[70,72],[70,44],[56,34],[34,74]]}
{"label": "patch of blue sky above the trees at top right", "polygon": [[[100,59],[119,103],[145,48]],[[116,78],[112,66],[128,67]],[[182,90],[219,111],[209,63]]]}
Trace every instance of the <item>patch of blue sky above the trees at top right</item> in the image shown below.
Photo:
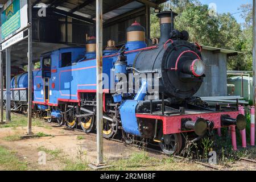
{"label": "patch of blue sky above the trees at top right", "polygon": [[[210,3],[215,3],[217,6],[217,13],[236,13],[238,11],[238,7],[243,4],[253,3],[253,0],[199,0],[201,3],[205,5],[209,5]],[[240,13],[233,14],[233,16],[237,19],[238,23],[243,23],[243,19],[240,17]]]}

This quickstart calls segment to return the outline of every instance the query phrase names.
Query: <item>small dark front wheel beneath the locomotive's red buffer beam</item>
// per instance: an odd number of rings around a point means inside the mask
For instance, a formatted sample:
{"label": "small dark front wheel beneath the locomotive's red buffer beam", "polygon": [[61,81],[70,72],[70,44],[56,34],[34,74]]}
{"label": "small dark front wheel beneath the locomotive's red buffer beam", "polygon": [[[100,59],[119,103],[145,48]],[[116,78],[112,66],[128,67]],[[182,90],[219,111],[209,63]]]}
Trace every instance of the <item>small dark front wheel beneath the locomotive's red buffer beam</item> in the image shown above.
{"label": "small dark front wheel beneath the locomotive's red buffer beam", "polygon": [[181,134],[164,135],[159,146],[168,155],[179,153],[182,147]]}

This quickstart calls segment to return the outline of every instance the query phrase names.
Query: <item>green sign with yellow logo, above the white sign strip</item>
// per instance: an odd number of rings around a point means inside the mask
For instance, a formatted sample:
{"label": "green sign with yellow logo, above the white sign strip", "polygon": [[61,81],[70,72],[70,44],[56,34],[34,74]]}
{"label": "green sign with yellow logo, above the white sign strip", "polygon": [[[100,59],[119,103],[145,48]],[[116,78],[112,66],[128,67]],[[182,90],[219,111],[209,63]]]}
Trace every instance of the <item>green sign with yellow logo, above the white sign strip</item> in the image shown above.
{"label": "green sign with yellow logo, above the white sign strip", "polygon": [[14,0],[1,14],[2,39],[20,28],[20,0]]}

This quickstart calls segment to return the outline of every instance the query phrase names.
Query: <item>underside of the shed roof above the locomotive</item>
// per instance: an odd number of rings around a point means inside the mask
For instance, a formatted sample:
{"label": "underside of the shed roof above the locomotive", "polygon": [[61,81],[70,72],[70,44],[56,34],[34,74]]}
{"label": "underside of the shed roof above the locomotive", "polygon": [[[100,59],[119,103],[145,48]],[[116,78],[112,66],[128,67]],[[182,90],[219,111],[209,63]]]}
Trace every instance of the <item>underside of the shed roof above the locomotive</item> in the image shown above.
{"label": "underside of the shed roof above the locomotive", "polygon": [[[160,3],[167,0],[104,0],[103,1],[103,19],[108,20],[125,14],[129,11],[139,9],[144,5],[157,8]],[[0,0],[5,4],[7,0]],[[47,7],[63,10],[69,14],[77,14],[85,18],[94,19],[96,17],[95,0],[32,0],[32,5],[44,3]],[[64,12],[64,13],[65,13]]]}

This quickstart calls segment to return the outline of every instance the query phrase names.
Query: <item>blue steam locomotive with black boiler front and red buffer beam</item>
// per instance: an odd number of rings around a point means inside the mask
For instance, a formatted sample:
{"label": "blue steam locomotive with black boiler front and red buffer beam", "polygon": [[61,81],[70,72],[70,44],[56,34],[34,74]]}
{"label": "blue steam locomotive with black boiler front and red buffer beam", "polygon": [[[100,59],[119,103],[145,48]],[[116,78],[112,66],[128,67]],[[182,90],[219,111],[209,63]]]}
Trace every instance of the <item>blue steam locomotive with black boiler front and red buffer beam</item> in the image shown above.
{"label": "blue steam locomotive with black boiler front and red buffer beam", "polygon": [[[102,68],[109,83],[103,88],[105,138],[121,132],[126,143],[135,138],[159,143],[166,154],[175,154],[185,140],[213,135],[213,129],[245,128],[245,117],[236,107],[209,107],[193,97],[204,80],[205,65],[200,46],[188,42],[188,32],[174,29],[176,15],[172,11],[158,14],[161,36],[157,46],[147,47],[144,27],[137,22],[127,28],[127,43],[121,49],[108,42]],[[92,132],[97,114],[95,38],[86,42],[86,49],[45,53],[40,65],[33,71],[35,113],[49,122]],[[13,78],[12,94],[26,90],[26,74]],[[129,81],[123,76],[128,75],[139,84],[138,90],[134,86],[126,89]],[[135,75],[146,78],[134,81]],[[20,102],[13,99],[12,103]]]}

